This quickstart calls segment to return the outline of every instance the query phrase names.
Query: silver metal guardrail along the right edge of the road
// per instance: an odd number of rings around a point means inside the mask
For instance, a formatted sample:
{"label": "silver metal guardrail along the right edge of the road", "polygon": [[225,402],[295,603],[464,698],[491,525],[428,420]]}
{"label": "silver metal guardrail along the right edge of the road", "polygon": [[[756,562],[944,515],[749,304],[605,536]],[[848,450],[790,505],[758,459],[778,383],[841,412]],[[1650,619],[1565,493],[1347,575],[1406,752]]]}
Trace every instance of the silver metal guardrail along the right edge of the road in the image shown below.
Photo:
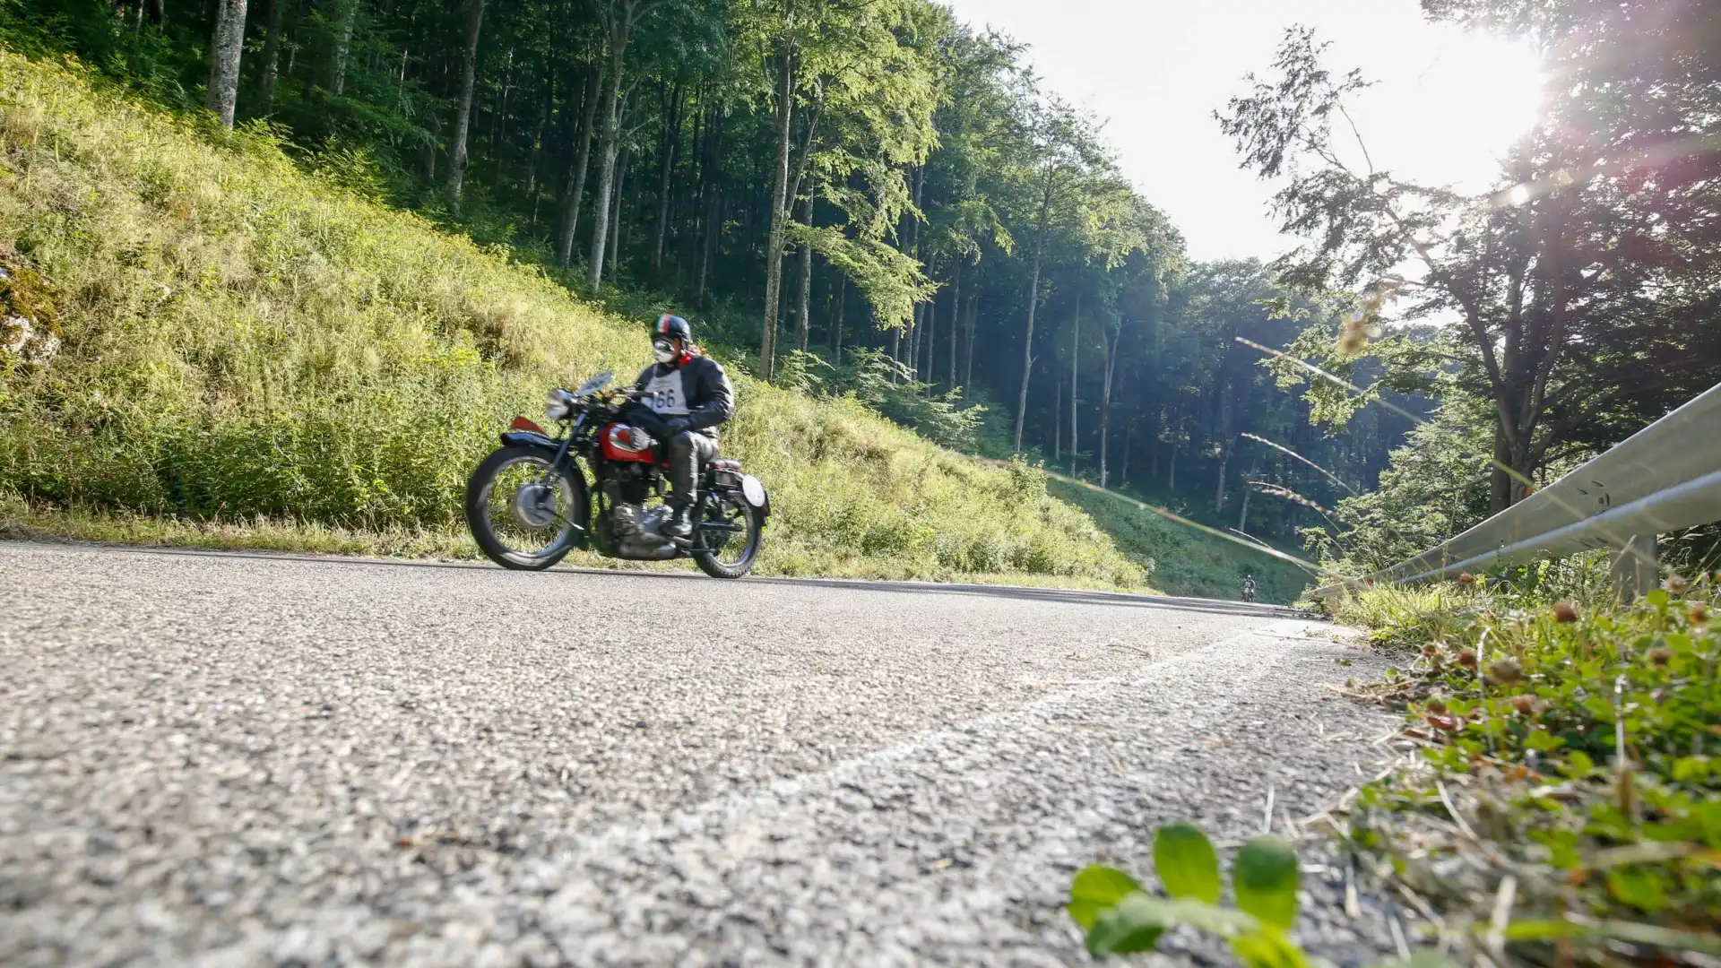
{"label": "silver metal guardrail along the right edge of the road", "polygon": [[1597,548],[1619,551],[1623,565],[1630,565],[1626,555],[1652,563],[1656,534],[1714,520],[1721,520],[1721,384],[1458,537],[1315,594],[1330,598],[1375,582],[1444,579]]}

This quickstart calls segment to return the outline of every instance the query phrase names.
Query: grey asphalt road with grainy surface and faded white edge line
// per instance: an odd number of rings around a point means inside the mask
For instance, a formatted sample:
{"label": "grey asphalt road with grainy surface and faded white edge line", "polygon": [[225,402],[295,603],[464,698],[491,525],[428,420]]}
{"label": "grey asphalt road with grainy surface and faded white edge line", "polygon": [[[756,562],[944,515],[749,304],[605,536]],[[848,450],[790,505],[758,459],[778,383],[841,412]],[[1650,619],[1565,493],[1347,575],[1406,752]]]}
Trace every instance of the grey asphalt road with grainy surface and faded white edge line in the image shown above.
{"label": "grey asphalt road with grainy surface and faded white edge line", "polygon": [[[1373,772],[1325,686],[1373,661],[1194,599],[0,543],[0,963],[1086,963],[1083,865]],[[1375,959],[1311,866],[1301,940]]]}

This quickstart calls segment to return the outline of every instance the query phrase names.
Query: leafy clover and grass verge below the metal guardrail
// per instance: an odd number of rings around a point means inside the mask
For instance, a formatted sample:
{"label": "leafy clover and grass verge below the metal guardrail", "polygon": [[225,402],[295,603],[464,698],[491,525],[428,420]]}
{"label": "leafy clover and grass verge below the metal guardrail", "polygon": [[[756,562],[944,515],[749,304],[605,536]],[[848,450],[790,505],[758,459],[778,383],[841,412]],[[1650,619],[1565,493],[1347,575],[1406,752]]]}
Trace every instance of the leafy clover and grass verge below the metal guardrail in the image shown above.
{"label": "leafy clover and grass verge below the metal guardrail", "polygon": [[1716,598],[1669,577],[1630,606],[1456,584],[1342,603],[1406,651],[1366,689],[1418,748],[1349,810],[1365,865],[1494,963],[1721,958]]}

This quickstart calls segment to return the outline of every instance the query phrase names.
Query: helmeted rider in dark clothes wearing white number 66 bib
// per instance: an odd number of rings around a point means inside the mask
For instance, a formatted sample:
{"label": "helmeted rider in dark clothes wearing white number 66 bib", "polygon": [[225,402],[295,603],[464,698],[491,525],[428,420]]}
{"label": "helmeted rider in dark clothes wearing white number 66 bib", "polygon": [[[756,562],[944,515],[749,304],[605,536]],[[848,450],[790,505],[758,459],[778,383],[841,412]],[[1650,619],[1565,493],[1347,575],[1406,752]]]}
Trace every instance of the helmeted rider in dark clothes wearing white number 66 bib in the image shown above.
{"label": "helmeted rider in dark clothes wearing white number 66 bib", "polygon": [[699,468],[718,456],[718,424],[735,417],[735,391],[716,360],[694,344],[694,329],[685,319],[663,313],[652,324],[656,363],[640,372],[637,389],[647,391],[640,427],[657,439],[669,462],[669,517],[659,527],[666,537],[688,537],[688,520],[699,498]]}

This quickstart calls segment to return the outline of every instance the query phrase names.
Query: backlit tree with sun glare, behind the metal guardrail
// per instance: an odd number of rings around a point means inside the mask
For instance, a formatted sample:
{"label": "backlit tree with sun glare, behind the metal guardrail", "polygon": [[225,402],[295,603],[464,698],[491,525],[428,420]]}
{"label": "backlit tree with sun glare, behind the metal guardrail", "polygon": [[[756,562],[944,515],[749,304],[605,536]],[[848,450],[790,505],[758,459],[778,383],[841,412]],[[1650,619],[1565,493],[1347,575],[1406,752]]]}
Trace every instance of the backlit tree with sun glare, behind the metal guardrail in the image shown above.
{"label": "backlit tree with sun glare, behind the metal guardrail", "polygon": [[[1277,281],[1325,307],[1279,374],[1308,381],[1311,417],[1325,424],[1385,391],[1439,389],[1447,406],[1475,410],[1485,506],[1497,513],[1525,479],[1721,377],[1721,236],[1685,217],[1721,205],[1721,153],[1681,146],[1692,131],[1714,133],[1721,71],[1688,53],[1687,31],[1712,29],[1683,3],[1423,7],[1520,34],[1563,78],[1492,189],[1377,169],[1348,112],[1368,83],[1329,67],[1329,45],[1305,26],[1286,29],[1270,72],[1251,74],[1218,122],[1243,165],[1275,184],[1280,227],[1305,239],[1274,264]],[[1621,167],[1635,174],[1613,177]],[[1368,344],[1391,315],[1456,324]],[[1298,367],[1349,381],[1365,351],[1377,379],[1358,393]]]}

